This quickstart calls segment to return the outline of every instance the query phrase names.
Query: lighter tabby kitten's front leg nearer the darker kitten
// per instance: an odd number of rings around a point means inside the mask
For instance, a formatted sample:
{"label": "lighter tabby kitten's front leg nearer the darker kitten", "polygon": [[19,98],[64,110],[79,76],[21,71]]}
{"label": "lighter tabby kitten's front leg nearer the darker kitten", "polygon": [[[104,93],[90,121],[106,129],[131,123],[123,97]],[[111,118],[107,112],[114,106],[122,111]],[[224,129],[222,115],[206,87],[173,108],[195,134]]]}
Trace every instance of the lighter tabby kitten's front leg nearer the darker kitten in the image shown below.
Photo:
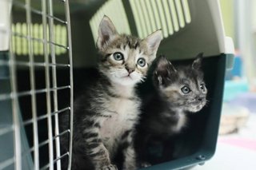
{"label": "lighter tabby kitten's front leg nearer the darker kitten", "polygon": [[136,152],[134,150],[133,132],[130,132],[126,137],[124,144],[126,148],[123,150],[124,163],[123,170],[134,170],[137,169],[136,165]]}

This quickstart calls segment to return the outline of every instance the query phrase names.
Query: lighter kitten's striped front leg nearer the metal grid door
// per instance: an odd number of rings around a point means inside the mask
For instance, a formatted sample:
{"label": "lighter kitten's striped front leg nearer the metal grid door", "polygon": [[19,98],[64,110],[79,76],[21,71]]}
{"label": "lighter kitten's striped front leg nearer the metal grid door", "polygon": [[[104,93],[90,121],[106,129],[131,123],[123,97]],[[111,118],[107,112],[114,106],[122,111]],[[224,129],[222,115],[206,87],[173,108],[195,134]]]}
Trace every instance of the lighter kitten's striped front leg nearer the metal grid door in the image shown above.
{"label": "lighter kitten's striped front leg nearer the metal grid door", "polygon": [[99,136],[99,129],[93,128],[84,133],[86,144],[86,155],[94,164],[95,170],[117,170],[110,162],[109,152]]}

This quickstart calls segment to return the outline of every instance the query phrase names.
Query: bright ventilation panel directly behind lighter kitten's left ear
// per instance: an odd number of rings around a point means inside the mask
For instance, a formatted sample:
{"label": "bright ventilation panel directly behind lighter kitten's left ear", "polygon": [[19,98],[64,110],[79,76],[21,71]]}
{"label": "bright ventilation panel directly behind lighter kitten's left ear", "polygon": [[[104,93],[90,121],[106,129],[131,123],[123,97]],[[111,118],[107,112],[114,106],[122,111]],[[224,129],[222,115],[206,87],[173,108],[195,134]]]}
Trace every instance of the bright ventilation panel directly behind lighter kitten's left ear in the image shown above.
{"label": "bright ventilation panel directly behind lighter kitten's left ear", "polygon": [[90,30],[94,36],[94,42],[97,41],[98,25],[102,21],[104,15],[111,19],[111,21],[114,23],[114,26],[118,30],[118,33],[130,34],[130,27],[122,1],[109,0],[97,10],[92,18],[90,18]]}

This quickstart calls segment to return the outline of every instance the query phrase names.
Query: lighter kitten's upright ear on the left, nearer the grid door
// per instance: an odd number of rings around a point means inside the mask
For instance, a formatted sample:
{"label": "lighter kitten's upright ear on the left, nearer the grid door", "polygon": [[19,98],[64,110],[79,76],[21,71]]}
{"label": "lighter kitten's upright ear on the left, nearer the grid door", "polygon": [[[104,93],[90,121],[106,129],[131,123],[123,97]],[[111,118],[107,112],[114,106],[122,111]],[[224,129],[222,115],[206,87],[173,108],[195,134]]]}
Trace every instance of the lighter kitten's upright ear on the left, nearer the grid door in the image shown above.
{"label": "lighter kitten's upright ear on the left, nearer the grid door", "polygon": [[98,26],[98,49],[102,49],[104,45],[113,40],[117,34],[118,31],[115,29],[113,22],[111,22],[110,18],[104,15]]}

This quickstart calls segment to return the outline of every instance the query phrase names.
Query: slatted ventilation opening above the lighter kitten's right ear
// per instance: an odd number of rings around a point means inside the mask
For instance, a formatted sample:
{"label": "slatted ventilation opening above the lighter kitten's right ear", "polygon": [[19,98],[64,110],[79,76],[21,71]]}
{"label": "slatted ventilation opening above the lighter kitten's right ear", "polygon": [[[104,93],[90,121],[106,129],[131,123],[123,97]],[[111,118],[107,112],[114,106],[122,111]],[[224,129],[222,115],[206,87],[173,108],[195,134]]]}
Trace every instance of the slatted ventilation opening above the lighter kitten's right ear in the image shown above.
{"label": "slatted ventilation opening above the lighter kitten's right ear", "polygon": [[188,0],[130,0],[130,6],[140,38],[158,29],[167,38],[191,22]]}

